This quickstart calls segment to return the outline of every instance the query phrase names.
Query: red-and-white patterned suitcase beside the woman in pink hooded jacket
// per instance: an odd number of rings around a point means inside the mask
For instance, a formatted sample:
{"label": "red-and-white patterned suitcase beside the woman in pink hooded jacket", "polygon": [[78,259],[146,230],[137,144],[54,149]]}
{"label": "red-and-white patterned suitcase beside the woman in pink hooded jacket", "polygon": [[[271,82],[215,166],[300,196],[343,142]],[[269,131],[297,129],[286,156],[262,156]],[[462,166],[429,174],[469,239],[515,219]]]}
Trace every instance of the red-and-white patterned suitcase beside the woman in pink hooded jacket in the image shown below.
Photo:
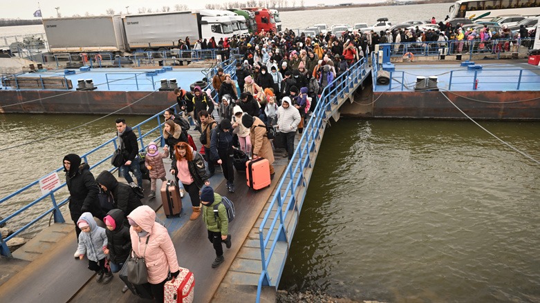
{"label": "red-and-white patterned suitcase beside the woman in pink hooded jacket", "polygon": [[187,268],[180,267],[178,277],[165,282],[163,286],[164,303],[192,303],[194,296],[195,277]]}

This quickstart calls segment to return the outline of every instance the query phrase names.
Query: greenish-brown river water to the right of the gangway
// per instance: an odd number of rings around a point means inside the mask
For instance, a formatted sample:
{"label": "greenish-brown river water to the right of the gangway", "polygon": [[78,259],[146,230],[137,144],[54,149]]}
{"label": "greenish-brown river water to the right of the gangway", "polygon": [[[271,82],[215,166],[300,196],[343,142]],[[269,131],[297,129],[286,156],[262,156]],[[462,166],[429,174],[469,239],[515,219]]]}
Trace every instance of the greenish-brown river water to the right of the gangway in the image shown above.
{"label": "greenish-brown river water to the right of the gangway", "polygon": [[[538,122],[481,124],[540,160]],[[469,121],[326,130],[280,289],[540,302],[540,166]]]}

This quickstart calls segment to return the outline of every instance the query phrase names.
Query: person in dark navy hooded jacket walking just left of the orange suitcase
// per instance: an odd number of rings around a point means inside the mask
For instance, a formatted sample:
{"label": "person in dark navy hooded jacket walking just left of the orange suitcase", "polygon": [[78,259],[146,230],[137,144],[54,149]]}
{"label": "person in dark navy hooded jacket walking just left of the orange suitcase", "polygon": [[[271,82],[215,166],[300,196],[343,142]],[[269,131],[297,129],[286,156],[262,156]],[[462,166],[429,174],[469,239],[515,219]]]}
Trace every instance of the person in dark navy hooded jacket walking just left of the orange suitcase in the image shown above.
{"label": "person in dark navy hooded jacket walking just left of the orange suitcase", "polygon": [[234,169],[232,164],[232,124],[229,119],[223,119],[219,126],[212,130],[210,139],[210,159],[217,162],[227,180],[227,190],[234,193]]}

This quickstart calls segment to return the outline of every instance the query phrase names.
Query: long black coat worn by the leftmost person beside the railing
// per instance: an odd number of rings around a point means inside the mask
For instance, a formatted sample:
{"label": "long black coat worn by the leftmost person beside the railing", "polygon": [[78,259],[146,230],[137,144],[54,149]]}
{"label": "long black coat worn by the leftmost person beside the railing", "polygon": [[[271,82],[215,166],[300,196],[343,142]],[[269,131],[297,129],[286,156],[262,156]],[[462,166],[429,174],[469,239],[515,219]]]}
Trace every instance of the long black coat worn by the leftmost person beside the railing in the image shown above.
{"label": "long black coat worn by the leftmost person beside the railing", "polygon": [[95,217],[102,218],[104,212],[101,210],[100,200],[97,199],[97,193],[100,188],[95,182],[94,175],[90,172],[90,166],[82,163],[79,170],[70,177],[66,173],[66,184],[69,190],[69,212],[71,219],[76,222],[82,213],[89,211]]}

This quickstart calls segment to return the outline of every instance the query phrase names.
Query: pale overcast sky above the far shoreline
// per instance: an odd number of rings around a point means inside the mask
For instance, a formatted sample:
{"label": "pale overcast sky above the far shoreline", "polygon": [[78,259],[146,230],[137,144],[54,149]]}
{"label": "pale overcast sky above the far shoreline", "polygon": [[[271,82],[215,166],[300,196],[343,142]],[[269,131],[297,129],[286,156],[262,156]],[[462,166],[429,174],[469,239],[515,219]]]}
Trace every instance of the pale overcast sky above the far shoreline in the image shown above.
{"label": "pale overcast sky above the far shoreline", "polygon": [[[187,5],[190,10],[200,10],[205,8],[207,3],[227,3],[227,2],[245,2],[245,0],[0,0],[0,19],[32,19],[34,12],[41,8],[41,14],[44,18],[56,17],[55,8],[59,8],[62,17],[71,17],[73,14],[84,16],[86,12],[93,15],[105,14],[108,8],[112,8],[116,13],[126,12],[126,6],[131,13],[138,11],[138,8],[162,8],[169,6],[171,9],[176,4]],[[292,6],[292,1],[288,0],[288,5]],[[300,5],[301,0],[296,0],[296,6]],[[317,3],[338,4],[338,3],[360,3],[382,0],[304,0],[304,6],[315,6]],[[39,5],[38,5],[39,2]]]}

